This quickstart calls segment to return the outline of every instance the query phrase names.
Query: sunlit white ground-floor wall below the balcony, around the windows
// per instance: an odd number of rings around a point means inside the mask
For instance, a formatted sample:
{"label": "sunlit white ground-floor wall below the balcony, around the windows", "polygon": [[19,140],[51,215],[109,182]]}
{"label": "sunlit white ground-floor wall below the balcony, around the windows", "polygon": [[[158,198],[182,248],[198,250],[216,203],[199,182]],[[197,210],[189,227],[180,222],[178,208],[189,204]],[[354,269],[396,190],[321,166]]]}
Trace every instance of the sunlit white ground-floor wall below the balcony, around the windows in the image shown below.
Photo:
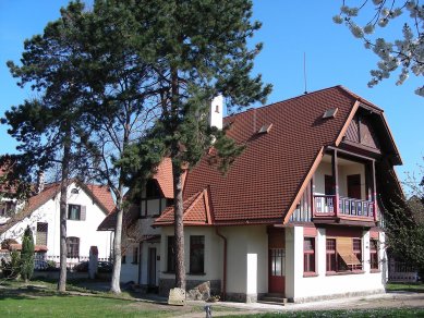
{"label": "sunlit white ground-floor wall below the balcony, around the windows", "polygon": [[[304,298],[342,295],[351,293],[383,291],[383,272],[370,272],[370,234],[364,233],[364,273],[326,276],[326,234],[317,231],[316,270],[317,277],[303,277],[303,228],[287,229],[287,276],[286,296],[301,302]],[[293,233],[293,234],[292,234]],[[294,241],[292,240],[294,237]],[[290,267],[290,269],[289,269]],[[290,274],[292,273],[292,274]]]}

